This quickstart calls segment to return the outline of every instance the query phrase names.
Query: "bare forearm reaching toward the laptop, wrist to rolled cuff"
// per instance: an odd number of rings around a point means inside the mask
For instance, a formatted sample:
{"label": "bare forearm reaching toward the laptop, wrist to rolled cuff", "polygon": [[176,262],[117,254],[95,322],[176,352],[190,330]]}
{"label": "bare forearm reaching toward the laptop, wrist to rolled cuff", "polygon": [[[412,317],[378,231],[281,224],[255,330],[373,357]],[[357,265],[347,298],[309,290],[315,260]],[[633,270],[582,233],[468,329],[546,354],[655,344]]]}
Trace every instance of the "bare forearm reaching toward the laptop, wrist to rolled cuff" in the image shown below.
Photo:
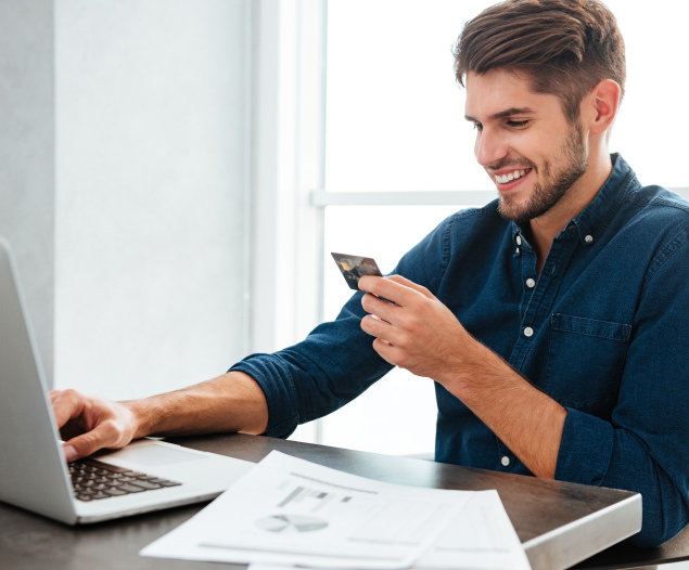
{"label": "bare forearm reaching toward the laptop, wrist to rolled cuff", "polygon": [[263,433],[268,425],[261,389],[241,372],[124,405],[133,414],[136,438],[222,431]]}

